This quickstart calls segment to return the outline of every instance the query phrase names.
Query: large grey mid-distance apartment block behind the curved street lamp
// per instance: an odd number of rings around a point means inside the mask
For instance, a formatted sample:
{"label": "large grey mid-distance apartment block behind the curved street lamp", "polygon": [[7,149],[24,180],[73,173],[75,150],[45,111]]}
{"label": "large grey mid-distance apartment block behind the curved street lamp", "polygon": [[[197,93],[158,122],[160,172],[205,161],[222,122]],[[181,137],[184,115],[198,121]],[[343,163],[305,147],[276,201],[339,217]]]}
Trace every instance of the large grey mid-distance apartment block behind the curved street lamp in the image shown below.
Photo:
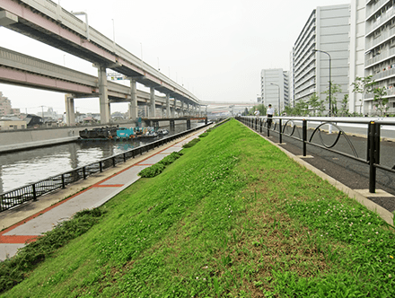
{"label": "large grey mid-distance apartment block behind the curved street lamp", "polygon": [[349,22],[349,4],[320,6],[312,11],[292,52],[294,102],[309,101],[314,92],[325,100],[322,92],[329,90],[329,76],[342,90],[337,94],[338,106],[349,92]]}

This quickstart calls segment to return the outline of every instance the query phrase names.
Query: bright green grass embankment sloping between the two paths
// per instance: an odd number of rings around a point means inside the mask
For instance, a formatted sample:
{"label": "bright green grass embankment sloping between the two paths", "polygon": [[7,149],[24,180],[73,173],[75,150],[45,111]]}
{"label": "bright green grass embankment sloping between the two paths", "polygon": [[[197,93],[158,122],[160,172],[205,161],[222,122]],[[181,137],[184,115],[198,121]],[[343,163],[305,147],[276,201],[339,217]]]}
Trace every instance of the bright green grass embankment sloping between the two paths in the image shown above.
{"label": "bright green grass embankment sloping between the two paths", "polygon": [[4,297],[393,297],[393,231],[235,120]]}

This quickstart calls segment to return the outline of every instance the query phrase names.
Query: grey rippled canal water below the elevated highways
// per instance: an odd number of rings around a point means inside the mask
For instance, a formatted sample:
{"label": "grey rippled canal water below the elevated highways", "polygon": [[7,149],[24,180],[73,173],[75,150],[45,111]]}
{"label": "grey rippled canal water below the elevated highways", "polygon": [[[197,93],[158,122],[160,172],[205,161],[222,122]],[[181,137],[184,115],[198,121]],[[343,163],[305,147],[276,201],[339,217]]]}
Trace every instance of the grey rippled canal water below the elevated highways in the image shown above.
{"label": "grey rippled canal water below the elevated highways", "polygon": [[[191,123],[191,128],[203,123]],[[168,136],[187,129],[177,125]],[[83,165],[97,162],[114,154],[123,153],[139,145],[158,140],[133,140],[127,142],[74,142],[0,154],[0,194],[13,188],[20,188],[58,173],[70,171]]]}

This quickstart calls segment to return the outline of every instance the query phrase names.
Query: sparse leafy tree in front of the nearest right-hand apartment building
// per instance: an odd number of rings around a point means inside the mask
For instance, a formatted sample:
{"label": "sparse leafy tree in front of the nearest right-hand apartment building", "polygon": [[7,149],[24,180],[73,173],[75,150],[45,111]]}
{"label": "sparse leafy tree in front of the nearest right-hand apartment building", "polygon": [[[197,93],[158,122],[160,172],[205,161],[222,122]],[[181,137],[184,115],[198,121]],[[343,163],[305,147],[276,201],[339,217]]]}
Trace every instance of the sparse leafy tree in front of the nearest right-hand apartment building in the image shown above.
{"label": "sparse leafy tree in front of the nearest right-hand apartment building", "polygon": [[[373,106],[380,111],[382,116],[389,109],[387,107],[388,98],[383,98],[387,95],[385,87],[378,87],[377,82],[372,79],[373,75],[368,75],[365,77],[355,77],[355,82],[351,85],[354,87],[353,92],[361,94],[370,94],[373,96]],[[359,106],[359,112],[361,113],[362,102]]]}

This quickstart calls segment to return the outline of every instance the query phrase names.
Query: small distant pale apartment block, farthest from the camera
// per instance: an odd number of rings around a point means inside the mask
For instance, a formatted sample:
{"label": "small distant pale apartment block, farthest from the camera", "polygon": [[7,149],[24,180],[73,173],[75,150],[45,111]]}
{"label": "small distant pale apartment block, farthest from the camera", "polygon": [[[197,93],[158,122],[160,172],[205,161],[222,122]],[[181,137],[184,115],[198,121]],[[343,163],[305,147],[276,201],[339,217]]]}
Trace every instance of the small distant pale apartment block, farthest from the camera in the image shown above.
{"label": "small distant pale apartment block, farthest from the camera", "polygon": [[271,104],[273,108],[284,110],[289,104],[289,72],[282,68],[262,69],[260,72],[261,99],[265,106]]}

